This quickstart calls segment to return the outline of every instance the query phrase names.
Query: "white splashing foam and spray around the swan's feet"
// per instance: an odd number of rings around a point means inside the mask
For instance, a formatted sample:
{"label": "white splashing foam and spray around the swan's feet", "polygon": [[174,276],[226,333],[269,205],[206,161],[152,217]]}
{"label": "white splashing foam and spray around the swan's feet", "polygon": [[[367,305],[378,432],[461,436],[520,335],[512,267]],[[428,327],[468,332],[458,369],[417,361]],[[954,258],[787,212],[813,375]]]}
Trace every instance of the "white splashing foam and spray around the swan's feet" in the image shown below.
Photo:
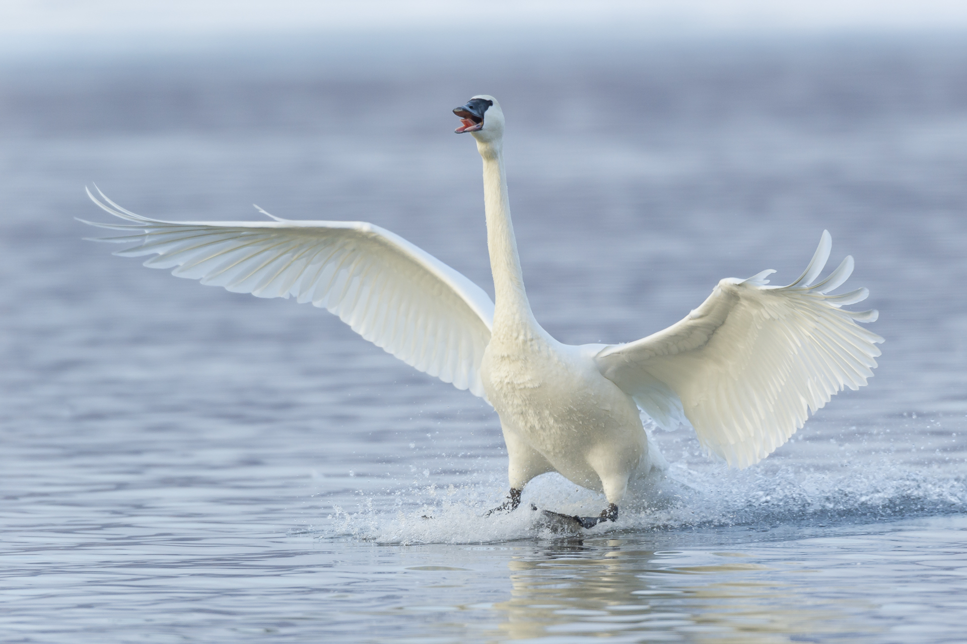
{"label": "white splashing foam and spray around the swan's feet", "polygon": [[[555,531],[541,510],[593,516],[606,501],[557,474],[538,477],[524,490],[516,512],[485,512],[501,503],[496,482],[406,491],[396,508],[367,497],[355,509],[337,508],[317,531],[323,538],[350,537],[378,543],[481,543],[572,536]],[[967,512],[967,478],[910,466],[857,467],[834,474],[783,465],[773,472],[714,466],[704,472],[672,463],[630,492],[616,522],[586,536],[625,531],[715,526],[868,523],[927,514]]]}

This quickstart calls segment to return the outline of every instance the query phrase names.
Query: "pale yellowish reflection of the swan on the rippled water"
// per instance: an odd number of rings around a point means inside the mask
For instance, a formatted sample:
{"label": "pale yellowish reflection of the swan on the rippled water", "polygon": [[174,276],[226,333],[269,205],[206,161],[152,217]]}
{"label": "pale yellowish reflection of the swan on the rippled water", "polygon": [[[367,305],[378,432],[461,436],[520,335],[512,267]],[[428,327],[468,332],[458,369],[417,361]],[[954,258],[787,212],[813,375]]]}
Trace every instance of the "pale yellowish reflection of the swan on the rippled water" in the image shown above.
{"label": "pale yellowish reflection of the swan on the rippled water", "polygon": [[494,639],[802,642],[859,630],[833,600],[800,591],[815,571],[797,562],[643,545],[601,540],[521,552],[508,562],[511,599],[493,605],[503,616]]}

